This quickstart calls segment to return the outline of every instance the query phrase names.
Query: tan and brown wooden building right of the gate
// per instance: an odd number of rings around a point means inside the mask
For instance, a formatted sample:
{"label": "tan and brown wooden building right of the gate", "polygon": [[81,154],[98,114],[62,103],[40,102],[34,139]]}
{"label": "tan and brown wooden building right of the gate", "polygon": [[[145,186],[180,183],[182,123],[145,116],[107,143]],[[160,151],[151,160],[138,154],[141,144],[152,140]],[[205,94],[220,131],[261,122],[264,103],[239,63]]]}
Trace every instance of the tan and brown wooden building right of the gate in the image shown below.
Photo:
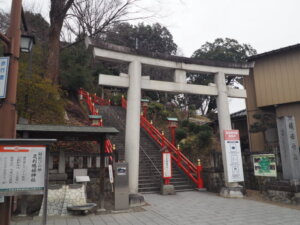
{"label": "tan and brown wooden building right of the gate", "polygon": [[[249,132],[251,152],[279,151],[276,118],[294,116],[300,140],[300,44],[252,56],[250,76],[244,78],[247,90],[247,122],[255,131],[264,115],[269,116],[265,132]],[[270,118],[273,117],[273,118]],[[274,123],[274,124],[272,124]],[[274,126],[272,126],[274,125]]]}

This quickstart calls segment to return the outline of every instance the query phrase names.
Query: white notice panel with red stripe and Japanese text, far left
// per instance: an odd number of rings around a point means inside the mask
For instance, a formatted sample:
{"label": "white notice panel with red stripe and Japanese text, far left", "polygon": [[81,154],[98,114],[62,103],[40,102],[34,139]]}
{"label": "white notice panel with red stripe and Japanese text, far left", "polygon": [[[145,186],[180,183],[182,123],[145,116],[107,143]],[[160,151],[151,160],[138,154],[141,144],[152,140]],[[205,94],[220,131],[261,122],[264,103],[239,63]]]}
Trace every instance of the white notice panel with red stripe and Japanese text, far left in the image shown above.
{"label": "white notice panel with red stripe and Japanese text, far left", "polygon": [[0,195],[44,190],[45,146],[0,145]]}

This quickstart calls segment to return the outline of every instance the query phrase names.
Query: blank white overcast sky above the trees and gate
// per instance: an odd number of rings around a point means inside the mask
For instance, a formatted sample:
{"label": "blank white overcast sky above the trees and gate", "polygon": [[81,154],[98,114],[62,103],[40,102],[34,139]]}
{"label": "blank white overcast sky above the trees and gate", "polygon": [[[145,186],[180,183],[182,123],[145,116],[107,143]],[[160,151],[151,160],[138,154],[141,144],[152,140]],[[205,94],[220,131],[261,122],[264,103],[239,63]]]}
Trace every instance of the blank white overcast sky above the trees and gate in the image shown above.
{"label": "blank white overcast sky above the trees and gate", "polygon": [[[0,0],[0,9],[9,10],[10,2]],[[49,0],[23,2],[48,15]],[[299,0],[140,0],[140,7],[155,14],[145,23],[166,26],[186,57],[218,37],[250,44],[258,53],[300,42]],[[230,111],[243,107],[231,101]]]}

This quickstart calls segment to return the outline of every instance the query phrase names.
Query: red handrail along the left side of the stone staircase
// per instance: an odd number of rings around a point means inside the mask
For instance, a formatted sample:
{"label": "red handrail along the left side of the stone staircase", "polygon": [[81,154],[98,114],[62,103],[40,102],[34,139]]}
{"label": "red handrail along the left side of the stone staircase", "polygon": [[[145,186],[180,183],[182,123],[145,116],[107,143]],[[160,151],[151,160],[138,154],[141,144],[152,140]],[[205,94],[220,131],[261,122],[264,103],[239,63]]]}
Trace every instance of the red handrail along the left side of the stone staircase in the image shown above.
{"label": "red handrail along the left side of the stone staircase", "polygon": [[[78,93],[79,93],[80,100],[84,100],[85,103],[87,104],[91,115],[99,115],[99,112],[98,112],[97,108],[95,107],[95,104],[110,105],[109,100],[104,100],[104,99],[98,97],[96,94],[90,95],[89,92],[83,90],[82,88],[79,89]],[[100,122],[97,125],[101,126],[101,127],[103,126],[102,119],[100,119]],[[109,139],[105,140],[104,149],[105,149],[105,153],[113,152],[113,145],[111,144]],[[112,163],[113,162],[112,156],[110,156],[109,159],[110,159],[110,162]]]}

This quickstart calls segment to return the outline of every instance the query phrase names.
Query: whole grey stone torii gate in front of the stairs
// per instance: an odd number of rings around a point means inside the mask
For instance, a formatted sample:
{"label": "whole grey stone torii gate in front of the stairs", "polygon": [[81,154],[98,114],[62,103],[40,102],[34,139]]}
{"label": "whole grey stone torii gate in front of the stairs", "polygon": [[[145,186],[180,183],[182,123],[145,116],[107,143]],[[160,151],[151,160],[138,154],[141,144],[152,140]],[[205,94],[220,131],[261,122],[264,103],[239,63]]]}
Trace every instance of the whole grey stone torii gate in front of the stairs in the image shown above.
{"label": "whole grey stone torii gate in front of the stairs", "polygon": [[[224,63],[195,60],[191,58],[145,53],[135,49],[99,42],[90,38],[85,40],[93,56],[104,61],[128,63],[128,75],[99,75],[99,84],[128,88],[125,129],[125,160],[129,163],[129,190],[138,192],[139,146],[140,146],[140,104],[141,90],[155,90],[173,93],[217,96],[218,119],[222,158],[225,173],[224,196],[238,197],[238,183],[230,182],[228,177],[229,161],[226,158],[224,130],[231,130],[228,97],[246,98],[246,90],[226,86],[225,75],[247,76],[253,64]],[[163,67],[174,70],[174,82],[150,80],[142,76],[142,66]],[[187,72],[209,73],[214,75],[214,84],[208,86],[187,84]],[[241,165],[242,169],[242,165]],[[241,181],[241,180],[239,180]],[[222,194],[222,193],[221,193]]]}

